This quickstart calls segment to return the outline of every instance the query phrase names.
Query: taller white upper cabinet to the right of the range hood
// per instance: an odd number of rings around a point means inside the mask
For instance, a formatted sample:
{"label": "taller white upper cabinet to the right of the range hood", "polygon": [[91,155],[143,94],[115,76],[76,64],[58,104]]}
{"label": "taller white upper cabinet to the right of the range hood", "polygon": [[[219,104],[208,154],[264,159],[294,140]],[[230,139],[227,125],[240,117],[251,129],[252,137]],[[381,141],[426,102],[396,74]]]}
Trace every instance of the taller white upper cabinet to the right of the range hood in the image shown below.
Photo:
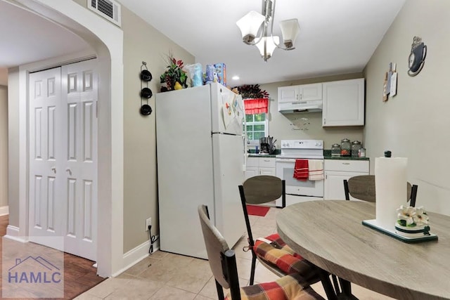
{"label": "taller white upper cabinet to the right of the range hood", "polygon": [[324,82],[322,126],[361,125],[364,125],[364,78]]}

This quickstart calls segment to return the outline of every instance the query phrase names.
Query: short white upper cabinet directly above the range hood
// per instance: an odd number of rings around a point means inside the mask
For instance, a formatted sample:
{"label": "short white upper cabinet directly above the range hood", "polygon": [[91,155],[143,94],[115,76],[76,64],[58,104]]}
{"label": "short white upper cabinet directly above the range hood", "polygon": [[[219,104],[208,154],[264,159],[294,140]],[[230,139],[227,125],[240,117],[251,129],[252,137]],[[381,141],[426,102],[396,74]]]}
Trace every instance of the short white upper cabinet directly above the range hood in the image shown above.
{"label": "short white upper cabinet directly above the range hood", "polygon": [[322,84],[303,84],[278,88],[278,103],[322,100]]}

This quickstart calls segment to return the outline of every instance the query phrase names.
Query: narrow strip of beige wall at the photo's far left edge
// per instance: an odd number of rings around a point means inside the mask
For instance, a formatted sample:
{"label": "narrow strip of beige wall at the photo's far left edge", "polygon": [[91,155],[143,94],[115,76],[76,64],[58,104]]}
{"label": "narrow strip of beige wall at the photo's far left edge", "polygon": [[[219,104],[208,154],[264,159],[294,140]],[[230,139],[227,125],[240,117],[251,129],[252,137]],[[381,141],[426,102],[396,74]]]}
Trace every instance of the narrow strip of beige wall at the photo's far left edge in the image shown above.
{"label": "narrow strip of beige wall at the photo's far left edge", "polygon": [[0,86],[0,207],[8,205],[8,87]]}

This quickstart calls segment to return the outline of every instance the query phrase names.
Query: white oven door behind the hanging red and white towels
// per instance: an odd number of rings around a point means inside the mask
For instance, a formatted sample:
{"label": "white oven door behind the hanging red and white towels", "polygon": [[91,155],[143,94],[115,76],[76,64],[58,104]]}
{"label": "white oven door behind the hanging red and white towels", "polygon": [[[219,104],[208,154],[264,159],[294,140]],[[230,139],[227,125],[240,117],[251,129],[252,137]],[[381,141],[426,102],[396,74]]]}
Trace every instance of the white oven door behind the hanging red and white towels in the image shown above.
{"label": "white oven door behind the hanging red and white towels", "polygon": [[297,180],[293,177],[294,167],[295,159],[276,158],[276,176],[285,180],[286,194],[309,197],[323,197],[323,180]]}

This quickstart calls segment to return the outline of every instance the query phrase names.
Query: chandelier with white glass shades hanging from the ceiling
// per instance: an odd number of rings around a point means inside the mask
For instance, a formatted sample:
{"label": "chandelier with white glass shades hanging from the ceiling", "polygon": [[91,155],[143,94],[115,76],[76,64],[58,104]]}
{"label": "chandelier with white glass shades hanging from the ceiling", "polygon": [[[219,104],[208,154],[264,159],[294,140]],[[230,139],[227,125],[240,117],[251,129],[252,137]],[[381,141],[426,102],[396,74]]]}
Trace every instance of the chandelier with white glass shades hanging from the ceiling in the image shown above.
{"label": "chandelier with white glass shades hanging from the ceiling", "polygon": [[276,0],[262,0],[262,13],[250,11],[240,18],[238,25],[242,33],[242,41],[248,45],[255,45],[259,49],[264,61],[271,58],[275,48],[283,50],[295,49],[295,39],[300,32],[297,19],[283,20],[280,22],[283,44],[280,38],[274,36],[274,15]]}

